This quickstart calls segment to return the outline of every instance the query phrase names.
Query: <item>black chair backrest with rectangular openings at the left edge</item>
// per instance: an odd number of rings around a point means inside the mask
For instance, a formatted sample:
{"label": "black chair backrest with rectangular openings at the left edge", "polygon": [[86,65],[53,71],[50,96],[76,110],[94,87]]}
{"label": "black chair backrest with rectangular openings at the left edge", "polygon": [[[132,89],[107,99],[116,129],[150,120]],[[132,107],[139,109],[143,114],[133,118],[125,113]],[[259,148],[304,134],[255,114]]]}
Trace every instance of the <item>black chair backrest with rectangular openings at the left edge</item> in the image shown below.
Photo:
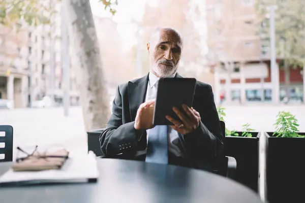
{"label": "black chair backrest with rectangular openings at the left edge", "polygon": [[0,162],[13,161],[13,127],[0,125]]}

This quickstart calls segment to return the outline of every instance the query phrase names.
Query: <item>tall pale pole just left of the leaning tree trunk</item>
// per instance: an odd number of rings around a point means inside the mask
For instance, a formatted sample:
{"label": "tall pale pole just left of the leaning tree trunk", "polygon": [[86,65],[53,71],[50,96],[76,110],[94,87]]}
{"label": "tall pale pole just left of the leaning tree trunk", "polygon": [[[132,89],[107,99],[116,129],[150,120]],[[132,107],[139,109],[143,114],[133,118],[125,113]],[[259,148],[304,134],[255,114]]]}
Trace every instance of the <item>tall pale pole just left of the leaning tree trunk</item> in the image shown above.
{"label": "tall pale pole just left of the leaning tree trunk", "polygon": [[63,86],[64,86],[64,114],[69,116],[70,106],[70,55],[67,16],[67,2],[62,1],[62,66],[63,66]]}

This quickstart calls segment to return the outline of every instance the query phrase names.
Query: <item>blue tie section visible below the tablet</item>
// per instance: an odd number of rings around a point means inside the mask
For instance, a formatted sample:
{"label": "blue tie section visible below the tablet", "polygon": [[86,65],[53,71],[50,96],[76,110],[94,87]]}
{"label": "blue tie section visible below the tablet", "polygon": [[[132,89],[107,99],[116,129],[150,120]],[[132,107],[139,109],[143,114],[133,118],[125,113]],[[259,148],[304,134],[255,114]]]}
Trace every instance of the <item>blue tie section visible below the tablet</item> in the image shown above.
{"label": "blue tie section visible below the tablet", "polygon": [[145,162],[168,163],[167,125],[157,125],[148,130]]}

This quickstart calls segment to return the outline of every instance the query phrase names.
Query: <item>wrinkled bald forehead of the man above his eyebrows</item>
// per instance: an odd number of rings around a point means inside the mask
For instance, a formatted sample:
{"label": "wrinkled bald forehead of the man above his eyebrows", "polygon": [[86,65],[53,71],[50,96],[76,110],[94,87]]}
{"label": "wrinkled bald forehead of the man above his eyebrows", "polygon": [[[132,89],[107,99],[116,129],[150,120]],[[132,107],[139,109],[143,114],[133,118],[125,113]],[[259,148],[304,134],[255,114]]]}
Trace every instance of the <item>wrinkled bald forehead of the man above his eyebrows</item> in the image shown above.
{"label": "wrinkled bald forehead of the man above his eyebrows", "polygon": [[155,33],[154,42],[159,44],[170,44],[171,46],[182,48],[180,35],[173,30],[160,30]]}

